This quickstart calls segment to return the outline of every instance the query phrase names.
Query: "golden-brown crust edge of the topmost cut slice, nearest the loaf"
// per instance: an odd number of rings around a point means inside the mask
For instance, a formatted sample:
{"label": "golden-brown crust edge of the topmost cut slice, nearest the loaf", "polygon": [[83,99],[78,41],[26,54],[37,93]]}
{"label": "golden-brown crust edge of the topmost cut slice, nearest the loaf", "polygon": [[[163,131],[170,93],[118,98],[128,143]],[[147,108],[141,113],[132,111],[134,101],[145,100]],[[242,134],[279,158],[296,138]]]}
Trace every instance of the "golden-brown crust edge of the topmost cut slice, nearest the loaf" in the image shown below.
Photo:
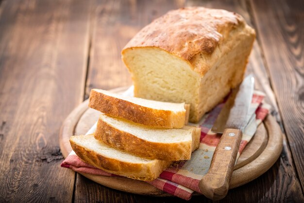
{"label": "golden-brown crust edge of the topmost cut slice, nearest the loaf", "polygon": [[186,122],[185,111],[156,110],[92,89],[89,107],[102,113],[124,118],[135,123],[156,128],[183,128]]}

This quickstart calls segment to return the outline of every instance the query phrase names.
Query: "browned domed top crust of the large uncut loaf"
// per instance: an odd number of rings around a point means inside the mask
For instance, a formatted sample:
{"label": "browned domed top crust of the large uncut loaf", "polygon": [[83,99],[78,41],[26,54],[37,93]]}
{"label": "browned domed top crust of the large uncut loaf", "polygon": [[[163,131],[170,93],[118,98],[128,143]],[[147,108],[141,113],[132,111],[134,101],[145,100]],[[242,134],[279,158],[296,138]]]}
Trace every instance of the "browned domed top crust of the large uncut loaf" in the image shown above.
{"label": "browned domed top crust of the large uncut loaf", "polygon": [[232,12],[204,7],[171,10],[139,31],[123,50],[158,47],[189,61],[194,55],[211,55],[232,29],[244,26]]}

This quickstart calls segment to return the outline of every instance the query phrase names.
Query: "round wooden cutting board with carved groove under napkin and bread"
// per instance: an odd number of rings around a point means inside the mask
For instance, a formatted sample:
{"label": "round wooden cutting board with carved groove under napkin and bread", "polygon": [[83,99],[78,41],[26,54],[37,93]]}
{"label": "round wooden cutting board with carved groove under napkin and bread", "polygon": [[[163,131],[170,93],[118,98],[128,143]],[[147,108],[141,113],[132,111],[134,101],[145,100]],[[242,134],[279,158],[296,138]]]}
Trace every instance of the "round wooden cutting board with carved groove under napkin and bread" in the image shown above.
{"label": "round wooden cutting board with carved groove under napkin and bread", "polygon": [[[127,87],[112,90],[122,93]],[[85,100],[75,108],[64,121],[59,135],[61,152],[67,157],[72,148],[69,138],[72,135],[85,134],[98,120],[100,112],[88,108],[88,100]],[[249,183],[265,173],[279,158],[283,148],[283,137],[279,125],[275,119],[268,115],[259,125],[253,139],[247,144],[236,162],[230,188]],[[170,196],[167,193],[143,182],[124,177],[97,176],[81,173],[88,179],[101,185],[141,195]],[[197,193],[198,195],[198,193]]]}

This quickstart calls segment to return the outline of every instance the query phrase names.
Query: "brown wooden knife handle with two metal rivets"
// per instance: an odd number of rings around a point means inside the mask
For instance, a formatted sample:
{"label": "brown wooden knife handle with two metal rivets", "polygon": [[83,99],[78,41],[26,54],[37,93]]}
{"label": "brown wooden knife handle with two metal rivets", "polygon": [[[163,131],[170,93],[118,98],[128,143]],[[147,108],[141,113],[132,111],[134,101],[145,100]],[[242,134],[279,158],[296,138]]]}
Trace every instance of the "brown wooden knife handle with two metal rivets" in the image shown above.
{"label": "brown wooden knife handle with two metal rivets", "polygon": [[229,189],[242,131],[225,129],[214,151],[208,173],[200,181],[200,189],[211,200],[223,199]]}

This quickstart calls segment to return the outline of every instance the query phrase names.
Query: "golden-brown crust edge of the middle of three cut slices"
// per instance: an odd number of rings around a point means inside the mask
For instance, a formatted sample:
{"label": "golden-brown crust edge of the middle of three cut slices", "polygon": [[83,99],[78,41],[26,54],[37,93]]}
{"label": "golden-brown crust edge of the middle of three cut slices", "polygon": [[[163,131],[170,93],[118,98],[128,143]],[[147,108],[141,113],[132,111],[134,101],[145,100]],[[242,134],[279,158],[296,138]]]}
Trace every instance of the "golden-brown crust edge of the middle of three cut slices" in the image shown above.
{"label": "golden-brown crust edge of the middle of three cut slices", "polygon": [[[194,131],[192,134],[193,133]],[[150,142],[138,138],[131,133],[117,129],[111,124],[104,122],[102,118],[98,120],[94,137],[113,148],[119,148],[128,153],[147,159],[179,161],[189,160],[191,158],[191,140],[180,143]],[[198,146],[195,147],[197,148]]]}

